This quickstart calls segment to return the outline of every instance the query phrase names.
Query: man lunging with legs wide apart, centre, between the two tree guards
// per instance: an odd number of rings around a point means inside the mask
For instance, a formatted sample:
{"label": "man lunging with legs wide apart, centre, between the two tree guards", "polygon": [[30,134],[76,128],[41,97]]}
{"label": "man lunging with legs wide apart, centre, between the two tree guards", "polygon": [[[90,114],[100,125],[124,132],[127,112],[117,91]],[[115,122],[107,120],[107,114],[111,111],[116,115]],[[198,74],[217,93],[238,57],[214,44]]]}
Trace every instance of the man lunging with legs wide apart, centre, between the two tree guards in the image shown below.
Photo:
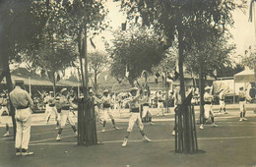
{"label": "man lunging with legs wide apart, centre, between the two tree guards", "polygon": [[140,129],[140,133],[141,133],[143,139],[147,140],[147,141],[151,141],[151,139],[148,139],[148,137],[144,133],[144,126],[143,126],[142,119],[140,116],[140,105],[141,105],[140,100],[145,101],[145,99],[144,98],[140,99],[141,95],[140,95],[137,87],[131,88],[130,93],[132,94],[132,96],[130,97],[130,99],[127,102],[130,104],[131,116],[129,119],[127,134],[122,143],[123,147],[127,145],[128,138],[129,138],[129,136],[133,130],[133,126],[136,122]]}

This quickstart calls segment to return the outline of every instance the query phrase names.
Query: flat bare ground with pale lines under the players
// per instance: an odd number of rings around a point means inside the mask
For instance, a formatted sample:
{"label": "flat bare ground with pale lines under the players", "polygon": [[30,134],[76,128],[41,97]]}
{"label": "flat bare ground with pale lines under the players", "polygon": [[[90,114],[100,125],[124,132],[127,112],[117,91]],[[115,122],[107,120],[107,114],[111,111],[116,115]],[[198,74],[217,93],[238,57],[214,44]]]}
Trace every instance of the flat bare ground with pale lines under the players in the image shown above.
{"label": "flat bare ground with pale lines under the players", "polygon": [[57,131],[54,129],[54,119],[50,125],[45,125],[42,114],[33,114],[30,151],[34,155],[15,156],[13,135],[2,137],[5,128],[1,123],[0,166],[256,166],[256,114],[249,110],[248,121],[239,122],[236,110],[228,112],[224,115],[216,111],[218,128],[206,125],[204,130],[199,130],[197,126],[198,145],[202,151],[194,154],[174,152],[174,137],[171,136],[173,113],[154,116],[156,125],[145,123],[145,132],[153,139],[152,142],[143,141],[135,126],[127,147],[121,144],[128,115],[116,119],[120,128],[117,131],[108,122],[107,131],[101,133],[101,125],[97,124],[97,139],[102,143],[85,147],[77,146],[77,139],[69,125],[66,125],[62,139],[55,141]]}

